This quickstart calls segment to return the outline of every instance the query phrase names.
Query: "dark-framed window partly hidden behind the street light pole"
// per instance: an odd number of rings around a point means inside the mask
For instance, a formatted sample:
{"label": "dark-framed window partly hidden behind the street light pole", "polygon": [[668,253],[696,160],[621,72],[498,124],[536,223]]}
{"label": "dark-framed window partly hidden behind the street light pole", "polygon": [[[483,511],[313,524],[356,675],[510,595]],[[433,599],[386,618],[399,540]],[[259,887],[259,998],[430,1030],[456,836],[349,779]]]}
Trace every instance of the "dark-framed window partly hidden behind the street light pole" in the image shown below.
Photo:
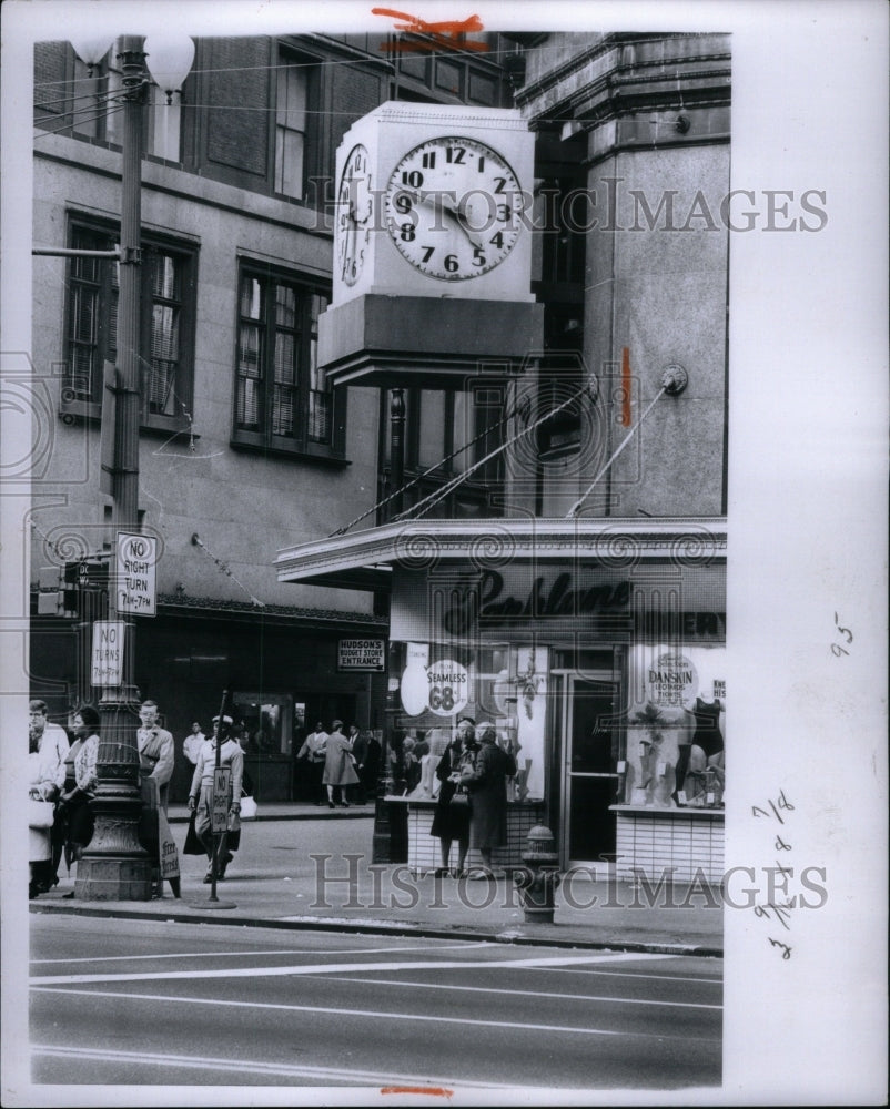
{"label": "dark-framed window partly hidden behind the street light pole", "polygon": [[[73,223],[69,242],[82,251],[110,251],[108,227]],[[143,235],[140,356],[142,425],[183,430],[191,420],[196,252]],[[62,414],[98,417],[105,362],[117,360],[119,263],[74,257],[69,263],[67,370]]]}

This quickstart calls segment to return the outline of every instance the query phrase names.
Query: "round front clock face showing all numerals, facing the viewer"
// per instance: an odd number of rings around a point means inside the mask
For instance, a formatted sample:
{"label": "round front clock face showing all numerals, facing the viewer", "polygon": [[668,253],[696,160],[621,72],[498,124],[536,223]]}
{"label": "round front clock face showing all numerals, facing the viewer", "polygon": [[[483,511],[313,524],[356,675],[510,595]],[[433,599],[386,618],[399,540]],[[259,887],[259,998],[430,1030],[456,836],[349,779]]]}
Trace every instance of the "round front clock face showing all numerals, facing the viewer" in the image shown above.
{"label": "round front clock face showing all numerals, facing the viewer", "polygon": [[398,253],[439,281],[499,265],[522,232],[523,197],[504,157],[457,135],[429,139],[398,162],[386,186],[386,228]]}

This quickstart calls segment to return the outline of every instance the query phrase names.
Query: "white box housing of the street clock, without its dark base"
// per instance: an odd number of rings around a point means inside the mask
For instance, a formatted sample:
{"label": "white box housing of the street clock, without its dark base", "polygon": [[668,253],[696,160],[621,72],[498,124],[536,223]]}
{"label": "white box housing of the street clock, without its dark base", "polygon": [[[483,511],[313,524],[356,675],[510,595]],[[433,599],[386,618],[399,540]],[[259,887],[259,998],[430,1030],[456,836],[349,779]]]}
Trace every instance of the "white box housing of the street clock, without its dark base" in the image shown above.
{"label": "white box housing of the street clock, without its dark base", "polygon": [[337,305],[386,296],[534,301],[534,135],[513,109],[390,101],[337,150]]}

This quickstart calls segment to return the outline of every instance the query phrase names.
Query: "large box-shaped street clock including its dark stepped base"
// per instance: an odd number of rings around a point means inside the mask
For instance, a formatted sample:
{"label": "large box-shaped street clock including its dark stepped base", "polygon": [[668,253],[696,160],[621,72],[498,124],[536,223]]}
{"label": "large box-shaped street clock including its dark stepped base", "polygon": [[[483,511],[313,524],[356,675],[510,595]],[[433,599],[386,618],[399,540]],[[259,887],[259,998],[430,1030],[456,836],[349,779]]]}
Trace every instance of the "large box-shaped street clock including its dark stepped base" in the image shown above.
{"label": "large box-shaped street clock including its dark stepped base", "polygon": [[466,388],[542,347],[532,292],[534,135],[518,111],[390,101],[336,155],[334,385]]}

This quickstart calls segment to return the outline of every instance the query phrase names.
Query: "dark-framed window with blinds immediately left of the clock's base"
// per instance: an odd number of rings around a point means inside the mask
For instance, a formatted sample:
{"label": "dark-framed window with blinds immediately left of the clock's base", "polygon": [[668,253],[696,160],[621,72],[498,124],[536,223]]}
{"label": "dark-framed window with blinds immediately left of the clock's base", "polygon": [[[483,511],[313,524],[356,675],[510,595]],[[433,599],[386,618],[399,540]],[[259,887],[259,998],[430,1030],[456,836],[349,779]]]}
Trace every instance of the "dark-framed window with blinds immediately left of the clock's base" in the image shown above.
{"label": "dark-framed window with blinds immediately left of the clock's base", "polygon": [[327,286],[242,264],[232,445],[343,459],[345,395],[317,364]]}

